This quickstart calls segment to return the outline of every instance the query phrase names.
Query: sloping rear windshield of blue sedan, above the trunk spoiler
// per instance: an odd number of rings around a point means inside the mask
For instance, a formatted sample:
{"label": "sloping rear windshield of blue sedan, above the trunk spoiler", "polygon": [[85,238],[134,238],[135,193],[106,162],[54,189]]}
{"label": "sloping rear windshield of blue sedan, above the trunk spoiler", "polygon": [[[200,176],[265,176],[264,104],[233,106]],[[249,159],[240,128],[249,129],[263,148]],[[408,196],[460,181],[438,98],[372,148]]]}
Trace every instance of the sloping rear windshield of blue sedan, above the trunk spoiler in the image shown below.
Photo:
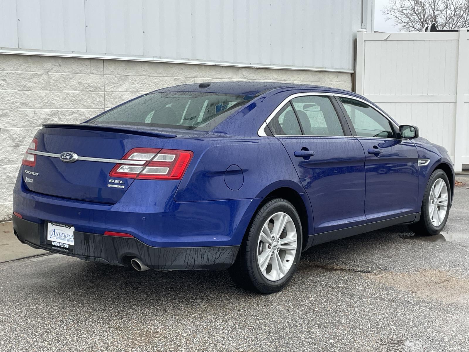
{"label": "sloping rear windshield of blue sedan, above the trunk spoiler", "polygon": [[88,123],[208,131],[253,98],[250,95],[199,92],[150,93]]}

